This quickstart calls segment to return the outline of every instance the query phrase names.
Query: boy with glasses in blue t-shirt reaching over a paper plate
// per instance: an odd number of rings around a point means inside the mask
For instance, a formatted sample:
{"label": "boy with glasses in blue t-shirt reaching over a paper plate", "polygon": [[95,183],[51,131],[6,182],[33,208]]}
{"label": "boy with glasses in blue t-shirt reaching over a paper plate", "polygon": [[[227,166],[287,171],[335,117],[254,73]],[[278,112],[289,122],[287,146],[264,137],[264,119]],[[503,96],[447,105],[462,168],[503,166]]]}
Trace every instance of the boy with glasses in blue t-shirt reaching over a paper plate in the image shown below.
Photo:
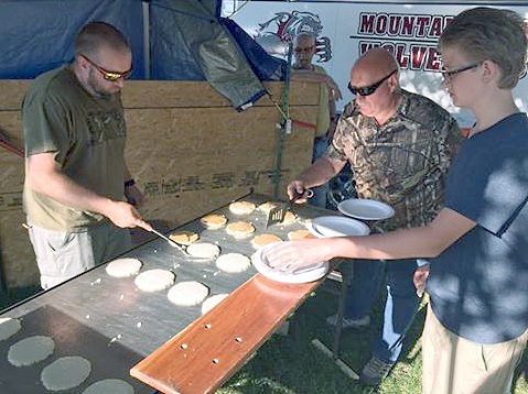
{"label": "boy with glasses in blue t-shirt reaching over a paper plate", "polygon": [[511,89],[526,64],[524,21],[474,8],[439,41],[444,86],[476,123],[448,173],[431,223],[369,237],[284,242],[287,272],[335,256],[431,261],[423,393],[507,393],[528,340],[528,118]]}

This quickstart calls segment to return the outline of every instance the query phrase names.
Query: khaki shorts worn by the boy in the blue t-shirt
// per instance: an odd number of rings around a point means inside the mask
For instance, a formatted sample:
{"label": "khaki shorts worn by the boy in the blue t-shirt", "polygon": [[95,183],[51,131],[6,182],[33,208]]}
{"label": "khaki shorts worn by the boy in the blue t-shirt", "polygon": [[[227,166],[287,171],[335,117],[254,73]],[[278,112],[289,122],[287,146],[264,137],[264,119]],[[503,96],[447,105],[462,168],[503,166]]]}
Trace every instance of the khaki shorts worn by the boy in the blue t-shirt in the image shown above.
{"label": "khaki shorts worn by the boy in the blue t-shirt", "polygon": [[527,339],[528,330],[507,342],[472,342],[449,331],[428,306],[422,335],[422,393],[510,393]]}

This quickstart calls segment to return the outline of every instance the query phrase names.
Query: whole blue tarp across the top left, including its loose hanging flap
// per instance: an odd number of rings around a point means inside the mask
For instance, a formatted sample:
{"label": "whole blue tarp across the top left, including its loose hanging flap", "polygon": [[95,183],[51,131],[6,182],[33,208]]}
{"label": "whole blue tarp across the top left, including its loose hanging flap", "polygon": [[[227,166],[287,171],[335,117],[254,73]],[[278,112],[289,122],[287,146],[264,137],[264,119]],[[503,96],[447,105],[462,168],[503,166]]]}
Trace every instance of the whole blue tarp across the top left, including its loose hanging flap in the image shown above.
{"label": "whole blue tarp across the top left, including its loose hanging flap", "polygon": [[219,11],[219,0],[0,0],[0,79],[34,78],[71,62],[76,33],[98,20],[129,40],[133,79],[144,79],[149,64],[150,79],[206,79],[236,109],[245,109],[266,94],[261,80],[282,78],[284,62],[269,56],[234,21],[222,20]]}

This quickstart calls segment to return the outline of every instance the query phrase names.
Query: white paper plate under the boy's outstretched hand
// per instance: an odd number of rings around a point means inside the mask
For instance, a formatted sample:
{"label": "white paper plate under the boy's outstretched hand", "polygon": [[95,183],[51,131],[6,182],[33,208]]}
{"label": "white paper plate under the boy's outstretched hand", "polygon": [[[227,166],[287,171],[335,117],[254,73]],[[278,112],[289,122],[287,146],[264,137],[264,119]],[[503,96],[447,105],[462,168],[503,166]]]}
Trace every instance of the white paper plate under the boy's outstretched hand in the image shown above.
{"label": "white paper plate under the boy's outstretched hand", "polygon": [[251,262],[255,269],[263,276],[282,283],[309,283],[322,278],[328,271],[327,262],[316,263],[291,274],[285,274],[281,271],[273,270],[268,265],[268,261],[263,256],[263,252],[271,248],[274,243],[268,243],[267,245],[258,249],[251,256]]}

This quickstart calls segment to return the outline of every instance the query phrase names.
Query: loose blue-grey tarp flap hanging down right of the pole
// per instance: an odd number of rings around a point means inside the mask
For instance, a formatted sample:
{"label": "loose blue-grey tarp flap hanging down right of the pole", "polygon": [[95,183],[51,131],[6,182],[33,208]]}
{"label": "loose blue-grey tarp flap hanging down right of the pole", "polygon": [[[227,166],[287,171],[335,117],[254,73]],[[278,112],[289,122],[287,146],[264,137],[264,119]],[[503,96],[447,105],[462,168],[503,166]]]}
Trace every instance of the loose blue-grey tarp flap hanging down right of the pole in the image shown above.
{"label": "loose blue-grey tarp flap hanging down right of the pole", "polygon": [[[245,109],[266,94],[262,83],[255,75],[237,42],[216,15],[201,2],[157,0],[150,4],[152,24],[155,26],[152,57],[157,59],[157,64],[172,65],[170,69],[160,69],[153,65],[157,79],[176,79],[175,75],[160,75],[159,72],[170,73],[175,70],[175,65],[191,63],[197,64],[205,79],[238,110]],[[159,18],[163,19],[163,23]],[[184,47],[171,47],[175,41],[162,40],[171,34],[180,36],[180,43]],[[155,46],[159,43],[162,46]],[[193,79],[200,77],[196,70],[184,73]],[[188,75],[190,73],[193,74]]]}

